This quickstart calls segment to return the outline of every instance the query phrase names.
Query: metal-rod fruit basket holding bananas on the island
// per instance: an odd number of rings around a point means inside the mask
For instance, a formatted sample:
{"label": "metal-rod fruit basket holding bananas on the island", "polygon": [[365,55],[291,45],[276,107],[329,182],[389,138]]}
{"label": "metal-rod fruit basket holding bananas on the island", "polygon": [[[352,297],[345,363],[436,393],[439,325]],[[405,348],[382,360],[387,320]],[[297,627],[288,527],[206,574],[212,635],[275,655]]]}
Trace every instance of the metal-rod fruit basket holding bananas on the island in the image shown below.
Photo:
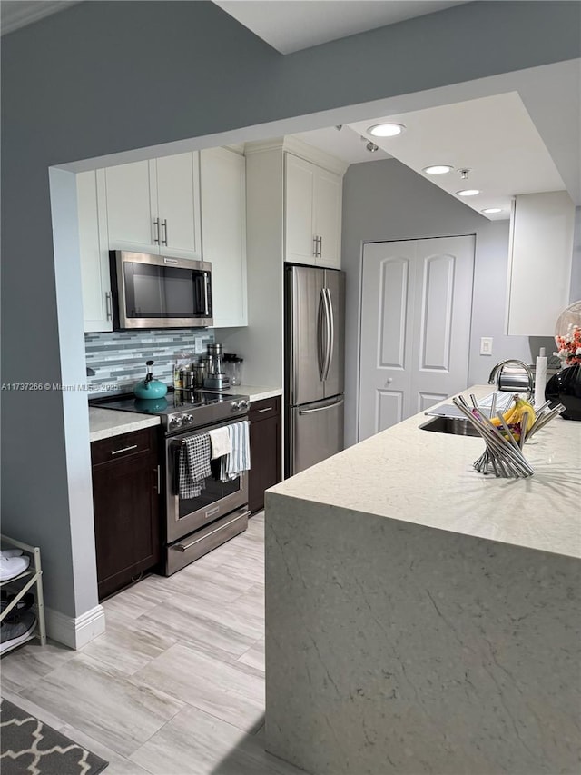
{"label": "metal-rod fruit basket holding bananas on the island", "polygon": [[[494,473],[497,477],[526,478],[534,473],[530,463],[523,454],[525,442],[529,441],[535,433],[540,431],[561,412],[565,412],[565,406],[558,403],[553,409],[549,408],[550,401],[543,403],[535,410],[535,422],[527,432],[527,415],[520,421],[520,438],[516,438],[509,430],[501,412],[496,411],[496,395],[492,397],[490,417],[497,417],[500,422],[498,428],[478,408],[478,402],[474,395],[470,395],[472,406],[468,404],[464,396],[458,395],[452,399],[452,403],[458,407],[468,422],[478,431],[486,443],[486,450],[474,462],[474,468],[480,473]],[[502,431],[502,432],[501,432]]]}

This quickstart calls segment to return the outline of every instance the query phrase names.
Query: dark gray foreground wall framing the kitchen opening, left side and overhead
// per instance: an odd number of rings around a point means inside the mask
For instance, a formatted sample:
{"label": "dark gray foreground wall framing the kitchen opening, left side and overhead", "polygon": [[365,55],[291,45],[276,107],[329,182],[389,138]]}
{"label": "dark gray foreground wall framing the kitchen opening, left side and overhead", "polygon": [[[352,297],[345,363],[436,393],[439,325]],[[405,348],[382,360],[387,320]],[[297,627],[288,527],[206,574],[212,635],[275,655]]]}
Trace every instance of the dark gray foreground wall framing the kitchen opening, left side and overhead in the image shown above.
{"label": "dark gray foreground wall framing the kitchen opening, left side and overhead", "polygon": [[[3,382],[84,382],[51,165],[562,62],[578,29],[575,3],[471,3],[282,56],[211,3],[92,0],[5,35]],[[57,184],[55,224],[74,212],[72,181]],[[3,530],[41,545],[47,605],[78,616],[96,601],[86,396],[8,390],[2,410]]]}

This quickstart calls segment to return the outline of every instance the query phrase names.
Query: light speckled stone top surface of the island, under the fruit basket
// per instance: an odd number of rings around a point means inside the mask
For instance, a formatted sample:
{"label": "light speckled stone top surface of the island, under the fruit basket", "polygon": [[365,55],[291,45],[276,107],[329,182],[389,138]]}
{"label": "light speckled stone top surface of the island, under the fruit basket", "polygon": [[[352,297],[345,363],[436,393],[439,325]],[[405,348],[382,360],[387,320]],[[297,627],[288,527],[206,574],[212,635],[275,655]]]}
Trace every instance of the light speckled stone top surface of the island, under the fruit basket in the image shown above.
{"label": "light speckled stone top surface of the island, under the fruit basket", "polygon": [[[483,398],[489,385],[463,392]],[[441,402],[449,403],[449,399]],[[527,479],[483,475],[484,442],[427,432],[422,412],[268,491],[438,530],[581,557],[581,422],[557,417],[525,444]]]}

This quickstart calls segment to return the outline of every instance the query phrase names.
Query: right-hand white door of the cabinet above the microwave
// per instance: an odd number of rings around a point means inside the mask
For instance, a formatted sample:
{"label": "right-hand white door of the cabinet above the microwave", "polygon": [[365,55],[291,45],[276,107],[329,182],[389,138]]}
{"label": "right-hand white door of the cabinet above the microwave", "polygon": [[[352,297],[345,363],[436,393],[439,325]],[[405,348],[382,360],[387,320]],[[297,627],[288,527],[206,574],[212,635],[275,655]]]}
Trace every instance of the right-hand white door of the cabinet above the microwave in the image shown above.
{"label": "right-hand white door of the cabinet above the microwave", "polygon": [[202,258],[200,226],[200,155],[156,159],[160,252]]}

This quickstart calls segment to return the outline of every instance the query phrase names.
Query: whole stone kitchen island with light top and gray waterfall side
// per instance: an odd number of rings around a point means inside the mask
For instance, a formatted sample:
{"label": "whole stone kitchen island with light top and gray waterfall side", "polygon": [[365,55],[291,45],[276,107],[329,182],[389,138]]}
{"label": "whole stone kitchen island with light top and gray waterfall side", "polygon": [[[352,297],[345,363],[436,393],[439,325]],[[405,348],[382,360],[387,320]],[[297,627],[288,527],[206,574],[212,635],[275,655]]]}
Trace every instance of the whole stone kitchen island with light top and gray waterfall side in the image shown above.
{"label": "whole stone kitchen island with light top and gray waterfall side", "polygon": [[316,775],[577,772],[581,423],[504,480],[427,420],[267,492],[266,748]]}

